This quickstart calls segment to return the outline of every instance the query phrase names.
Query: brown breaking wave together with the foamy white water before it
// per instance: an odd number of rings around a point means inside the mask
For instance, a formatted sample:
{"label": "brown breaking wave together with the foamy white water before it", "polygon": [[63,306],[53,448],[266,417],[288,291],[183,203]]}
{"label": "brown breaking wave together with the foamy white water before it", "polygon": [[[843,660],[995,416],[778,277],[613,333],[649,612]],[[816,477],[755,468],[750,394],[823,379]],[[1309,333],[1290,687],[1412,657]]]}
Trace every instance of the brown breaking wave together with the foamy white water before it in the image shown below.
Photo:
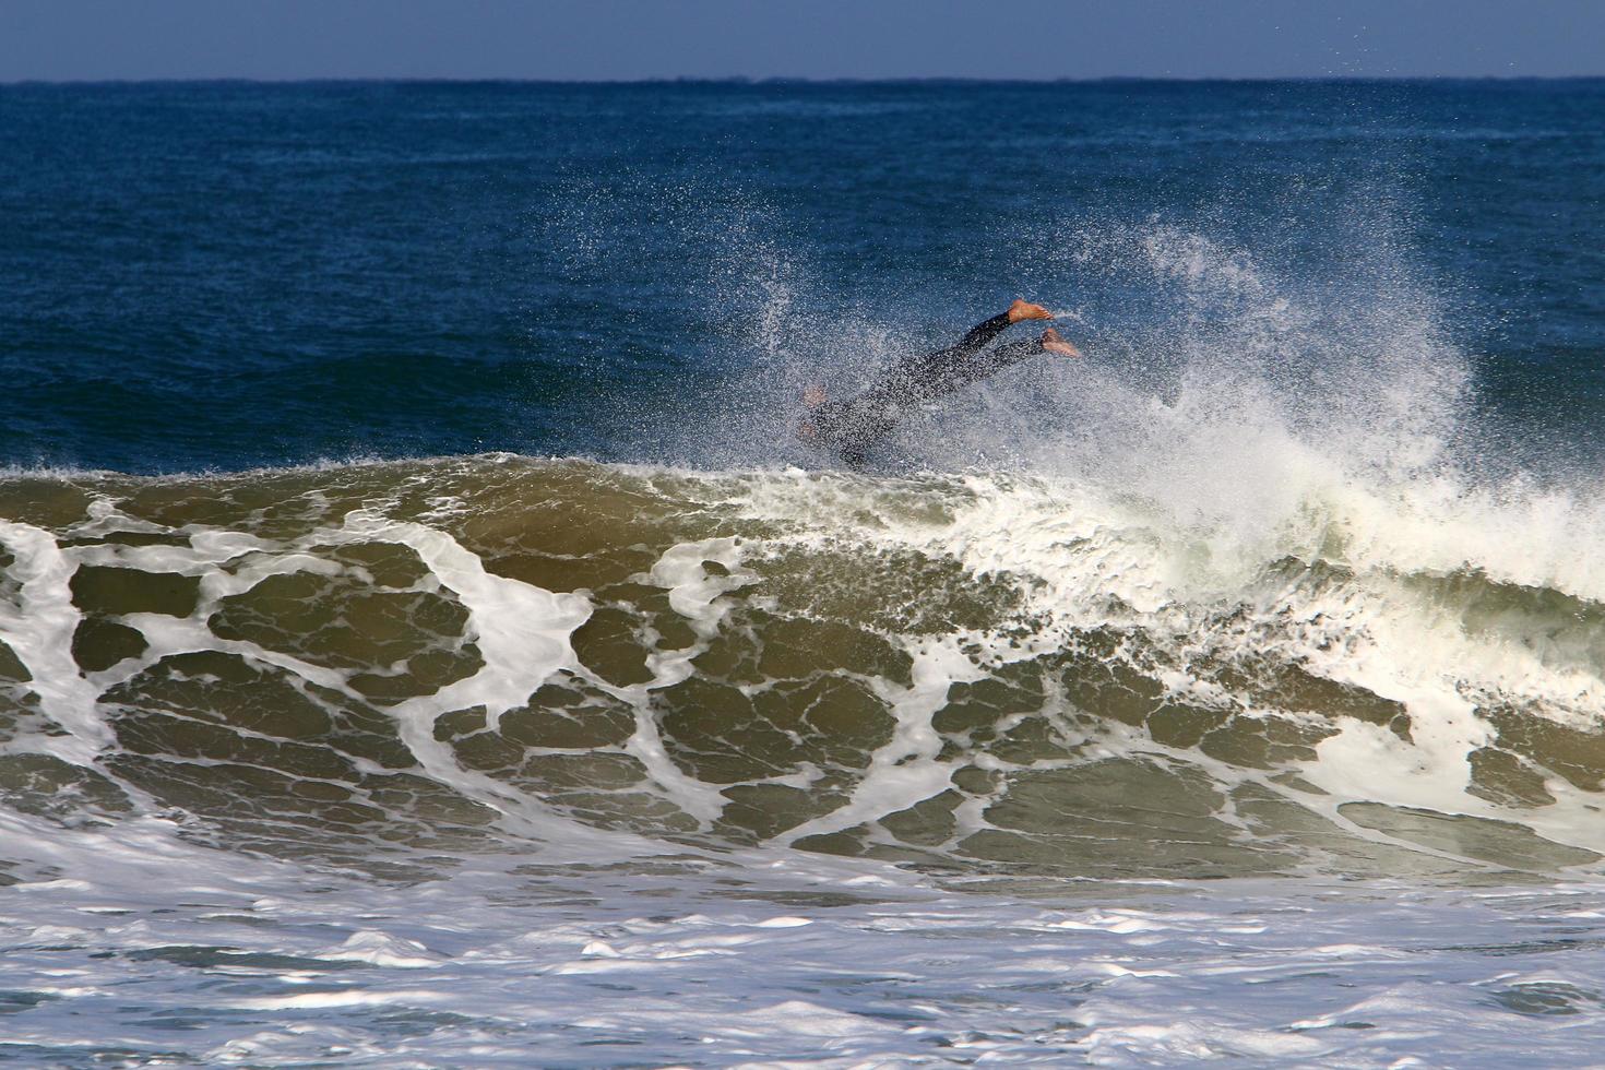
{"label": "brown breaking wave together with the foamy white water before it", "polygon": [[1351,489],[1223,573],[1022,475],[3,491],[24,1062],[1599,1041],[1599,571],[1526,515]]}

